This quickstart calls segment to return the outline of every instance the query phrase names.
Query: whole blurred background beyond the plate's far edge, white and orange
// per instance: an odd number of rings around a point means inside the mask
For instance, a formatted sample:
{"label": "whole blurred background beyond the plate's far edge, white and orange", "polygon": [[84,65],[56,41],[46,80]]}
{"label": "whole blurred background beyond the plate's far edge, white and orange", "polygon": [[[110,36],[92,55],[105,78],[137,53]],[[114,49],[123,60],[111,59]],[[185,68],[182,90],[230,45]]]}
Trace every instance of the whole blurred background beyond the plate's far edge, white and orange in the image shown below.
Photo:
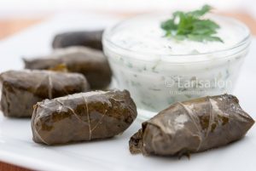
{"label": "whole blurred background beyond the plate's far edge, white and orange", "polygon": [[55,14],[103,13],[130,16],[154,11],[196,9],[210,4],[218,13],[247,23],[255,33],[255,0],[0,0],[0,38]]}

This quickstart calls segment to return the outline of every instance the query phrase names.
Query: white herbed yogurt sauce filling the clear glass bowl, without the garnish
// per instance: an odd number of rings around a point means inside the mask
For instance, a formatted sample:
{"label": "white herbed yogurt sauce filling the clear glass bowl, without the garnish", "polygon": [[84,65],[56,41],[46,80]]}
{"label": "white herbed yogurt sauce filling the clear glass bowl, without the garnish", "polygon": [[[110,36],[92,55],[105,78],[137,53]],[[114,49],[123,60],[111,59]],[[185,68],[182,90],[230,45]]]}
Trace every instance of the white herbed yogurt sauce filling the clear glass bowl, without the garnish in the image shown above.
{"label": "white herbed yogurt sauce filling the clear glass bowl, without the garnish", "polygon": [[248,50],[247,27],[214,15],[212,20],[220,26],[215,36],[224,43],[176,41],[164,37],[160,28],[168,17],[137,17],[106,32],[104,53],[119,88],[128,89],[137,107],[148,111],[163,110],[177,101],[232,93]]}

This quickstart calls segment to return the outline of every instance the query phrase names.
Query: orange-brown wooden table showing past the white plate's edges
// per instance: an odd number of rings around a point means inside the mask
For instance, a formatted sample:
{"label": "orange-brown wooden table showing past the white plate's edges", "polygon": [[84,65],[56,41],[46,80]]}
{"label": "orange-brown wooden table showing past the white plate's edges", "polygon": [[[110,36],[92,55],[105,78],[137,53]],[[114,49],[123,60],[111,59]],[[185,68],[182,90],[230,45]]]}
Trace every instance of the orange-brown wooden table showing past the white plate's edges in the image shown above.
{"label": "orange-brown wooden table showing past the white plate's edges", "polygon": [[[256,35],[256,20],[253,19],[248,14],[241,14],[241,13],[222,13],[224,15],[235,17],[238,20],[243,21],[252,31],[253,35]],[[121,14],[121,15],[131,15],[131,14]],[[0,20],[0,41],[10,35],[15,34],[16,32],[22,31],[29,26],[33,26],[38,24],[43,19],[10,19],[10,20]],[[40,169],[40,168],[38,168]],[[18,166],[0,162],[0,171],[31,171],[27,168],[20,168]]]}

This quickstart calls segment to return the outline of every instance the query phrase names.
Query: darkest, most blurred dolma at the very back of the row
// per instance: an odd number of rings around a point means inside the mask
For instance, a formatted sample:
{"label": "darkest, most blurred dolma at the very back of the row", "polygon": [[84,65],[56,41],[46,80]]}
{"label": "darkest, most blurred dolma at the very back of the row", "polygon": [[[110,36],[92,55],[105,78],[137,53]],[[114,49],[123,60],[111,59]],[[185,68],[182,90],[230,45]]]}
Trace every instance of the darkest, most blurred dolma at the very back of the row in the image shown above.
{"label": "darkest, most blurred dolma at the very back of the row", "polygon": [[85,46],[102,50],[103,31],[70,31],[57,34],[52,43],[53,48]]}

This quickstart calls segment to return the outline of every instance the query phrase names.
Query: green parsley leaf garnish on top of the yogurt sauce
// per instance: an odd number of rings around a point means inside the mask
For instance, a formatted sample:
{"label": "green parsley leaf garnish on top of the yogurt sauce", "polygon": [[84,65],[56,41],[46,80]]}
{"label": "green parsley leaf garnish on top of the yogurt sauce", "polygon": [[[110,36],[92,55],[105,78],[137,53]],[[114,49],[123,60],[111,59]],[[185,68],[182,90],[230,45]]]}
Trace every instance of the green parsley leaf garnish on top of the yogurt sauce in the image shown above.
{"label": "green parsley leaf garnish on top of the yogurt sauce", "polygon": [[161,23],[161,28],[166,31],[166,37],[176,40],[189,39],[197,42],[215,41],[223,43],[220,37],[214,36],[219,29],[216,22],[202,17],[211,12],[212,7],[204,5],[201,9],[184,13],[177,11],[172,14],[172,19]]}

